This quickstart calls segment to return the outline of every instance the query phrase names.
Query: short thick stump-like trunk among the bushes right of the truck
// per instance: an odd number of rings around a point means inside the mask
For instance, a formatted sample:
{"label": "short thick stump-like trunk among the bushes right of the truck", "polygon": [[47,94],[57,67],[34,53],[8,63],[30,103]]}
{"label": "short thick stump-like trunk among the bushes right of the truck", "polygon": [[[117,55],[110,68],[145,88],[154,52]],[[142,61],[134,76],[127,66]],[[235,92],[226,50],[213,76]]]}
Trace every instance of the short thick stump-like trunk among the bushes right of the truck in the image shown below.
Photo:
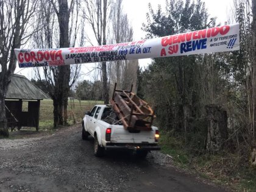
{"label": "short thick stump-like trunk among the bushes right of the truck", "polygon": [[228,138],[227,111],[218,105],[205,105],[208,121],[207,149],[217,152]]}

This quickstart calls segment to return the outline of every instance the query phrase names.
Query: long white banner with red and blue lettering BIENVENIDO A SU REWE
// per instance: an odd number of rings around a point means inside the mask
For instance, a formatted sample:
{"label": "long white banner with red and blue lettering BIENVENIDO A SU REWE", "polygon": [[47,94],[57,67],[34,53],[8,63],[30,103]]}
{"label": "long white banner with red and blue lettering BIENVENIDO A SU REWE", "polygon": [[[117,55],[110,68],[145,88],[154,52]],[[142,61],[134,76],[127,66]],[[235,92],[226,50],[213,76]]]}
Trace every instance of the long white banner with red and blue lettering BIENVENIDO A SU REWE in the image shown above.
{"label": "long white banner with red and blue lettering BIENVENIDO A SU REWE", "polygon": [[129,43],[84,48],[15,49],[20,68],[172,57],[239,50],[239,24]]}

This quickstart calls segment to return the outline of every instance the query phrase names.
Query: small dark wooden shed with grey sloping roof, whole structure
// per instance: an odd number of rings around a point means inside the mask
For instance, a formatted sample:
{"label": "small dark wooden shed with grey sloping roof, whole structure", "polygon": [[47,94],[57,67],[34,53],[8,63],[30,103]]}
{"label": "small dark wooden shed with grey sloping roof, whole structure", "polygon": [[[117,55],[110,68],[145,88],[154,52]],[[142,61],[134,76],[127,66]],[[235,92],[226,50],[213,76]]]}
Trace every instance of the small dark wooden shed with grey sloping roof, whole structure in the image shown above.
{"label": "small dark wooden shed with grey sloping roof, whole structure", "polygon": [[39,127],[40,101],[48,99],[46,93],[33,85],[25,76],[13,74],[5,98],[7,126]]}

